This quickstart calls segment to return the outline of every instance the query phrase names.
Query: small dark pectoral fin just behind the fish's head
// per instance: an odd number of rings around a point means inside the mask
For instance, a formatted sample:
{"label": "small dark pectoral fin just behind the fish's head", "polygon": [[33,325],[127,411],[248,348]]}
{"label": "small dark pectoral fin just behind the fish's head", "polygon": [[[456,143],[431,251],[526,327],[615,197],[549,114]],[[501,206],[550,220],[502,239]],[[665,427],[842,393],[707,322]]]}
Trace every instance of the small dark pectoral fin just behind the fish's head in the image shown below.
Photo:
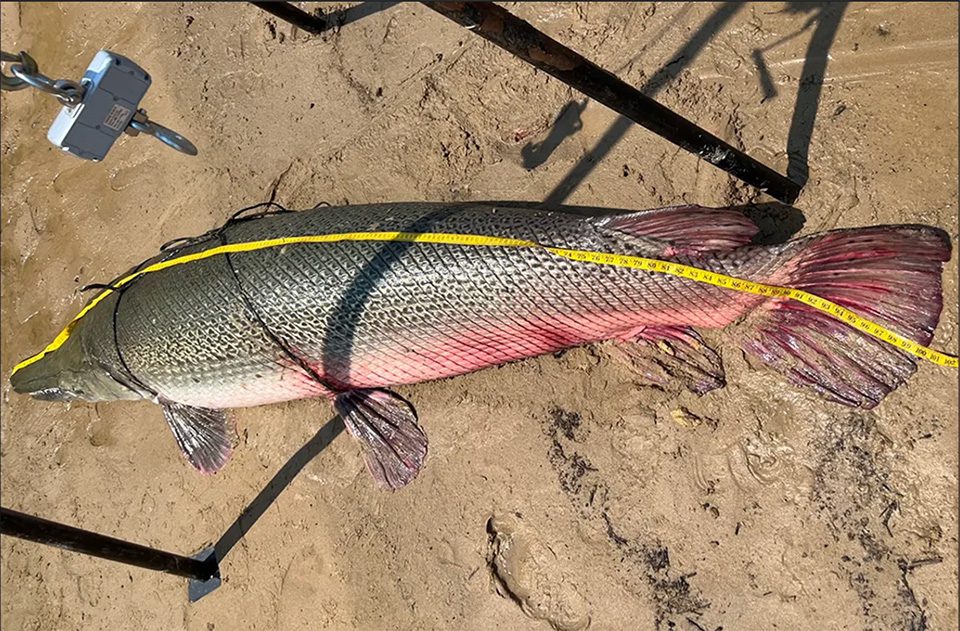
{"label": "small dark pectoral fin just behind the fish's head", "polygon": [[233,446],[223,410],[197,408],[162,399],[160,406],[183,455],[200,473],[213,474],[227,464]]}

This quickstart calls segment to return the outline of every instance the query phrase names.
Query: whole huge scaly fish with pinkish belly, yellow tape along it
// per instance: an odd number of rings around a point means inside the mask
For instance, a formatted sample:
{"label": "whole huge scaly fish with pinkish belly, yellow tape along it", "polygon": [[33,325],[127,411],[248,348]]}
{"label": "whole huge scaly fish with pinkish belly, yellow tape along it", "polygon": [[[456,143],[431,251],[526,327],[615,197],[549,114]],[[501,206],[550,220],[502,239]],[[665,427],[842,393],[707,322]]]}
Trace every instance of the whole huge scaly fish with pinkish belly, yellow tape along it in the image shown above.
{"label": "whole huge scaly fish with pinkish belly, yellow tape along it", "polygon": [[389,388],[613,340],[650,380],[725,383],[697,332],[789,381],[871,408],[904,383],[942,308],[950,242],[918,225],[750,245],[757,227],[700,206],[584,217],[397,203],[236,217],[104,286],[18,364],[38,399],[147,398],[191,464],[232,450],[226,409],[332,399],[378,484],[423,465],[413,405]]}

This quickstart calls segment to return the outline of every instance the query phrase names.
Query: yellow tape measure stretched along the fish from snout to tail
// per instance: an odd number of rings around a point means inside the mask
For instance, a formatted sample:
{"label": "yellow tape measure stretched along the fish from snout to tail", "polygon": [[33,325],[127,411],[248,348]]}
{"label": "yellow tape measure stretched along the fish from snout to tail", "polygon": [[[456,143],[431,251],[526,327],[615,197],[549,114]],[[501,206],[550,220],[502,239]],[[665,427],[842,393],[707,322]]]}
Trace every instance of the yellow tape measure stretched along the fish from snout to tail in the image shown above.
{"label": "yellow tape measure stretched along the fish from snout to tail", "polygon": [[[762,283],[755,283],[753,281],[744,280],[742,278],[735,278],[733,276],[726,276],[724,274],[718,274],[716,272],[711,272],[708,270],[700,269],[698,267],[692,267],[690,265],[682,265],[680,263],[671,263],[670,261],[660,261],[657,259],[648,259],[640,256],[629,256],[626,254],[610,254],[607,252],[589,252],[586,250],[570,250],[566,248],[555,248],[551,246],[541,245],[534,241],[526,241],[523,239],[507,239],[502,237],[487,237],[483,235],[475,234],[450,234],[442,232],[346,232],[342,234],[320,234],[320,235],[305,235],[300,237],[280,237],[277,239],[266,239],[263,241],[248,241],[245,243],[230,243],[227,245],[221,245],[219,247],[210,248],[209,250],[204,250],[203,252],[196,252],[194,254],[187,254],[186,256],[181,256],[178,258],[170,259],[168,261],[161,261],[160,263],[154,263],[153,265],[148,265],[147,267],[134,272],[130,276],[121,278],[119,281],[114,283],[115,288],[120,288],[127,283],[143,276],[144,274],[149,274],[151,272],[159,272],[175,265],[183,265],[184,263],[189,263],[191,261],[199,261],[201,259],[207,259],[213,256],[218,256],[220,254],[228,254],[234,252],[251,252],[254,250],[263,250],[266,248],[276,248],[282,247],[285,245],[293,245],[297,243],[335,243],[338,241],[399,241],[403,243],[440,243],[444,245],[469,245],[469,246],[485,246],[485,247],[511,247],[511,248],[541,248],[557,256],[562,256],[567,259],[574,261],[583,261],[587,263],[596,263],[597,265],[612,265],[615,267],[627,267],[631,269],[644,270],[648,272],[659,272],[662,274],[671,274],[673,276],[680,276],[683,278],[688,278],[690,280],[697,281],[699,283],[707,283],[708,285],[715,285],[717,287],[723,287],[724,289],[730,289],[733,291],[740,291],[748,294],[756,294],[758,296],[767,296],[769,298],[790,298],[798,302],[802,302],[805,305],[813,307],[818,311],[822,311],[828,315],[833,316],[834,318],[845,322],[850,326],[863,331],[868,335],[892,344],[897,348],[906,351],[912,355],[920,357],[922,359],[927,359],[939,364],[941,366],[947,366],[949,368],[957,368],[960,366],[960,361],[952,355],[947,355],[939,351],[935,351],[932,348],[927,348],[922,344],[918,344],[913,340],[907,339],[902,335],[894,333],[889,329],[886,329],[875,322],[857,315],[856,313],[841,307],[840,305],[830,302],[826,298],[821,298],[814,294],[802,291],[800,289],[793,289],[791,287],[779,287],[777,285],[764,285]],[[83,308],[83,310],[70,321],[67,327],[60,332],[57,337],[47,345],[42,351],[29,357],[16,366],[13,367],[13,373],[29,366],[35,361],[38,361],[47,353],[52,353],[61,346],[64,342],[70,337],[70,332],[76,326],[77,322],[82,318],[88,311],[93,309],[101,300],[113,293],[113,289],[105,289],[103,292],[97,295],[90,303]]]}

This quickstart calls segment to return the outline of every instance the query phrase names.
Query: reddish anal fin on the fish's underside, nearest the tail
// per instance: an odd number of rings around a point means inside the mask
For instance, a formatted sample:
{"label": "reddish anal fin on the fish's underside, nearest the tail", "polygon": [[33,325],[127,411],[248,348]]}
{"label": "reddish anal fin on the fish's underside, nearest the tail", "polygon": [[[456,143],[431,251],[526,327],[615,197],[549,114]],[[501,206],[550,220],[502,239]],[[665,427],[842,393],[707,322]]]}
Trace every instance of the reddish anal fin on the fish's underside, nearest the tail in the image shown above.
{"label": "reddish anal fin on the fish's underside, nearest the tail", "polygon": [[691,328],[658,326],[631,331],[619,348],[649,383],[665,386],[678,380],[696,394],[721,388],[723,362]]}

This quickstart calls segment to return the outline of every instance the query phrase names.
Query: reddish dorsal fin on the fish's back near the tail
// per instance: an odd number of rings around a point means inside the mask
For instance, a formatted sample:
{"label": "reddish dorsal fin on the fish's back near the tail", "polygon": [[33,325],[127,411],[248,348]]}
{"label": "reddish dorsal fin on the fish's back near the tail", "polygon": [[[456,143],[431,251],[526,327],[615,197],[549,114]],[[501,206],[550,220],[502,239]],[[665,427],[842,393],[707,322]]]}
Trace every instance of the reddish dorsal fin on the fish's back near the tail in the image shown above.
{"label": "reddish dorsal fin on the fish's back near the tail", "polygon": [[676,253],[729,250],[746,245],[757,226],[743,213],[727,208],[669,206],[627,215],[598,217],[600,229],[617,230],[634,237],[667,241]]}

